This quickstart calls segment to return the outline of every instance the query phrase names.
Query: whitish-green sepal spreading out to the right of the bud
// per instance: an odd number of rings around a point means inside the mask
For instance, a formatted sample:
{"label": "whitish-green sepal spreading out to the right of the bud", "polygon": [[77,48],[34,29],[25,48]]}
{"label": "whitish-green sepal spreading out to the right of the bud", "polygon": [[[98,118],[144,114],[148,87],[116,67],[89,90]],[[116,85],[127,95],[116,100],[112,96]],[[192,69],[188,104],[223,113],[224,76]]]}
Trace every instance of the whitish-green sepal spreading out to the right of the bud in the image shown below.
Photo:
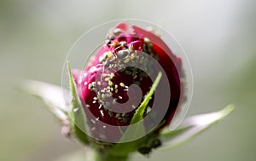
{"label": "whitish-green sepal spreading out to the right of the bud", "polygon": [[218,112],[195,115],[186,118],[176,130],[170,131],[169,129],[164,129],[161,132],[161,141],[163,142],[163,147],[161,148],[166,149],[177,147],[187,141],[190,141],[196,135],[201,134],[201,132],[212,127],[212,125],[217,124],[219,120],[226,117],[234,109],[234,105],[229,105]]}

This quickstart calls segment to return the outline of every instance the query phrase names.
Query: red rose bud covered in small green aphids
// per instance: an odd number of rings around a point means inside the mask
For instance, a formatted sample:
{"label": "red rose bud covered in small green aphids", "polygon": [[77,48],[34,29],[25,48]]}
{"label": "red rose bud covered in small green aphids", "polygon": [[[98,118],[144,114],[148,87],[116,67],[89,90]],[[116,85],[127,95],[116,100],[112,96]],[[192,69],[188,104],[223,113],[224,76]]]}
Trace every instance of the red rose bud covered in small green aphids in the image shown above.
{"label": "red rose bud covered in small green aphids", "polygon": [[[108,33],[106,42],[92,57],[84,71],[73,71],[79,97],[84,103],[90,135],[96,140],[118,142],[151,89],[160,67],[155,66],[143,53],[157,60],[168,79],[169,87],[161,80],[156,90],[169,88],[167,90],[171,92],[166,113],[154,134],[171,123],[182,98],[180,77],[183,76],[179,75],[182,74],[182,62],[153,32],[138,26],[129,28],[125,23],[121,23]],[[140,67],[136,67],[137,64]],[[144,117],[153,110],[155,96],[154,93],[148,101]],[[154,111],[156,117],[161,112],[157,109]],[[148,123],[154,123],[154,118],[150,119]],[[102,125],[101,122],[110,126]],[[151,130],[152,126],[148,124],[145,129],[147,128]]]}

